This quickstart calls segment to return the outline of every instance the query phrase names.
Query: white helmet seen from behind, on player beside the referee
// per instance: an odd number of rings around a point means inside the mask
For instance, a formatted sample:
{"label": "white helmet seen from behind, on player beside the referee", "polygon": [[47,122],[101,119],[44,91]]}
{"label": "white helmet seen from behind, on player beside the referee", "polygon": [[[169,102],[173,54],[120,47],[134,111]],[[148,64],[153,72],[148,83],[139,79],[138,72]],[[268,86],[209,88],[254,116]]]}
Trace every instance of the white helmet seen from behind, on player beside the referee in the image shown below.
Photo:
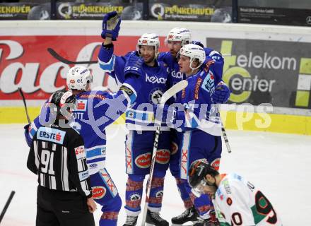
{"label": "white helmet seen from behind, on player beside the referee", "polygon": [[88,83],[93,83],[93,76],[84,66],[74,66],[67,73],[66,83],[69,90],[87,90]]}

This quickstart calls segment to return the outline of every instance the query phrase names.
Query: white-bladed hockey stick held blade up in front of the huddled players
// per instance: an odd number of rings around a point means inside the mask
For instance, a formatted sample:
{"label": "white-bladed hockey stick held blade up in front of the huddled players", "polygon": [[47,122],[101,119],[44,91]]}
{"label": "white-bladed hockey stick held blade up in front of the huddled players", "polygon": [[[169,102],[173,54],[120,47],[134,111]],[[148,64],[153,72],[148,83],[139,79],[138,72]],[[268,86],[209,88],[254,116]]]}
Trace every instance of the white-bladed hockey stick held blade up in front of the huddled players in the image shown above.
{"label": "white-bladed hockey stick held blade up in front of the huddled players", "polygon": [[[161,100],[160,100],[160,107],[163,108],[165,102],[167,102],[170,99],[170,97],[172,97],[176,93],[180,92],[182,89],[186,88],[187,85],[188,85],[188,81],[182,80],[179,83],[173,85],[165,93],[163,93]],[[145,202],[145,207],[143,209],[143,220],[141,222],[142,226],[144,226],[146,223],[148,200],[149,200],[150,191],[151,191],[151,182],[153,179],[153,169],[154,169],[154,165],[155,165],[155,157],[156,157],[156,153],[158,150],[158,141],[159,141],[159,136],[160,136],[161,121],[159,119],[155,118],[155,125],[156,125],[155,138],[154,138],[154,143],[153,143],[153,153],[152,153],[152,158],[151,158],[150,173],[149,173],[149,178],[148,178],[148,182],[147,182],[146,202]]]}

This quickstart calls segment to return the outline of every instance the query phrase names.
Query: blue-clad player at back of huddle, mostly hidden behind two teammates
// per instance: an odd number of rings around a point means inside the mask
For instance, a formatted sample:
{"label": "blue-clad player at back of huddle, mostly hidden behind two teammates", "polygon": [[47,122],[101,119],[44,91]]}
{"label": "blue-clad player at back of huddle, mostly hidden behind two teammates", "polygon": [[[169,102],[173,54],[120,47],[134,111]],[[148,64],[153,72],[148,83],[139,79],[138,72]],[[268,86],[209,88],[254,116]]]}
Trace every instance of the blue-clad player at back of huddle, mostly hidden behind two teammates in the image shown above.
{"label": "blue-clad player at back of huddle, mostly hidden behind two teammates", "polygon": [[[174,85],[175,83],[181,81],[182,79],[187,78],[184,73],[180,71],[180,66],[178,64],[178,61],[180,59],[180,49],[185,45],[189,44],[191,41],[191,33],[186,28],[173,28],[168,33],[168,36],[166,37],[165,42],[167,42],[168,48],[170,49],[169,52],[161,52],[159,54],[158,60],[165,62],[165,64],[168,65],[170,68],[170,76],[168,78],[168,81],[170,81],[170,85]],[[198,43],[198,42],[195,42]],[[201,47],[203,45],[199,43]],[[206,62],[209,61],[210,58],[214,59],[214,64],[218,65],[219,75],[221,76],[223,71],[223,58],[221,55],[210,48],[204,48],[204,51],[206,53]],[[230,96],[230,90],[228,89],[227,85],[223,83],[223,81],[220,81],[217,85],[217,88],[215,92],[213,93],[213,103],[225,103],[227,102],[228,98]],[[170,172],[175,177],[175,180],[177,182],[177,187],[180,191],[182,201],[184,202],[184,207],[186,210],[181,215],[178,215],[175,218],[172,218],[172,223],[176,225],[181,225],[184,222],[192,221],[196,222],[198,214],[197,211],[194,208],[194,203],[192,202],[188,192],[186,191],[186,188],[184,186],[184,183],[187,183],[186,180],[180,179],[180,170],[179,170],[179,164],[180,164],[180,157],[182,157],[181,147],[178,147],[177,143],[178,137],[180,135],[177,131],[172,130],[172,155],[170,156]],[[203,200],[203,198],[202,198]],[[199,206],[199,214],[204,217],[208,217],[206,213],[208,213],[210,203],[207,202],[201,202],[201,206]],[[201,222],[196,222],[196,225],[201,225]]]}

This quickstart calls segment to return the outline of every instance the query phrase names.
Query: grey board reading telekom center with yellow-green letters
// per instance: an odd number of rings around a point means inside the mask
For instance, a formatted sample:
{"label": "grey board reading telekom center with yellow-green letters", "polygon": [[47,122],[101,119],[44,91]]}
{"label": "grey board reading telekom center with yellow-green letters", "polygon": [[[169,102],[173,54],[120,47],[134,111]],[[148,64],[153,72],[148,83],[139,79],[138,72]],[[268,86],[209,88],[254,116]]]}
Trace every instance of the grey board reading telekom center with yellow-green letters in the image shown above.
{"label": "grey board reading telekom center with yellow-green letters", "polygon": [[206,38],[225,58],[230,102],[311,109],[311,43]]}

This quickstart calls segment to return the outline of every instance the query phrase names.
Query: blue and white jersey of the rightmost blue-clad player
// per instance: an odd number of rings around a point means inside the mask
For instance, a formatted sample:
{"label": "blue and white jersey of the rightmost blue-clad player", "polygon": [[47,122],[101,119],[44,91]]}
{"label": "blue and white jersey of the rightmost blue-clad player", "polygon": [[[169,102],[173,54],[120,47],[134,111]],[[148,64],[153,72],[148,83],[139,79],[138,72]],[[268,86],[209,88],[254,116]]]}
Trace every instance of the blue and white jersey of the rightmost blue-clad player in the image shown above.
{"label": "blue and white jersey of the rightmost blue-clad player", "polygon": [[186,109],[177,112],[176,117],[184,122],[181,126],[183,131],[201,129],[213,136],[221,136],[218,106],[213,104],[211,95],[221,81],[222,73],[222,64],[217,64],[212,57],[206,57],[201,69],[187,78],[187,88],[182,90],[176,100]]}

